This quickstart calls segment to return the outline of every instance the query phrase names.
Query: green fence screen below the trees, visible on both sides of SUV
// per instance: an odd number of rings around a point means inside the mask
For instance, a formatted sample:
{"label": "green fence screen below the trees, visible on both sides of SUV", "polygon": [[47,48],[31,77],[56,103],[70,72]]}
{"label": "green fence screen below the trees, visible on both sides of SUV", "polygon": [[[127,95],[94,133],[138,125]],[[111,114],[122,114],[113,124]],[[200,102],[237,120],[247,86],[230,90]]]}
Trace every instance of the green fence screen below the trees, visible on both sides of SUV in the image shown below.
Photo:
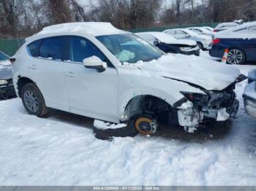
{"label": "green fence screen below the trees, visible on both sides of SUV", "polygon": [[[187,26],[163,26],[163,27],[152,27],[152,28],[135,28],[129,29],[132,33],[145,32],[145,31],[165,31],[170,28],[187,28],[192,26],[211,26],[215,28],[218,23],[201,23]],[[18,48],[25,42],[25,39],[0,39],[0,50],[7,55],[15,55]]]}

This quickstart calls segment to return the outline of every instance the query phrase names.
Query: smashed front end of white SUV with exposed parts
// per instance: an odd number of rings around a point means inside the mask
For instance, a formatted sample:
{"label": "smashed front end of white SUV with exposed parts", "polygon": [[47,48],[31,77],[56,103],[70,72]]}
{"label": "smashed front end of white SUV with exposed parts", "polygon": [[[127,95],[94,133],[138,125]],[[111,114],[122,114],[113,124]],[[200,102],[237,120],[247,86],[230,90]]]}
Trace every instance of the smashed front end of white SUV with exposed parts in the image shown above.
{"label": "smashed front end of white SUV with exposed parts", "polygon": [[196,128],[203,120],[225,121],[236,117],[239,101],[234,92],[236,82],[224,90],[203,90],[201,93],[181,92],[192,108],[178,110],[179,125],[186,128]]}

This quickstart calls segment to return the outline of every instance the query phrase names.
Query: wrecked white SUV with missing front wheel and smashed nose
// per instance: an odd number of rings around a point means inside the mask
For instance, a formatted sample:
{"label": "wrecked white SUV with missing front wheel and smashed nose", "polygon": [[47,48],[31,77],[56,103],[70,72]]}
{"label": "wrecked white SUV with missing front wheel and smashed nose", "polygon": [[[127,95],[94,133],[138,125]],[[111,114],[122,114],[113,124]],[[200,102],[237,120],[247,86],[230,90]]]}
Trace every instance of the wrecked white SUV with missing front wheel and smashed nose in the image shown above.
{"label": "wrecked white SUV with missing front wheel and smashed nose", "polygon": [[65,23],[26,39],[12,58],[15,91],[29,114],[48,108],[154,133],[159,118],[195,128],[235,117],[232,66],[166,55],[110,23]]}

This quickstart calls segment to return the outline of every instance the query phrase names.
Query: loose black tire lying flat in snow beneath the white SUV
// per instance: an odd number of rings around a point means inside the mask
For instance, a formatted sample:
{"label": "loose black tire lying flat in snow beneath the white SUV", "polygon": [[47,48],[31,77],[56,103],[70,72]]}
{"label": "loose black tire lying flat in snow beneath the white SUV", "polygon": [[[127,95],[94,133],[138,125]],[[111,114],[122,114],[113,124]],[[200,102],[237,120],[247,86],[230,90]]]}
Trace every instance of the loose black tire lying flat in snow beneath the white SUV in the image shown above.
{"label": "loose black tire lying flat in snow beneath the white SUV", "polygon": [[112,141],[113,137],[135,137],[138,131],[129,125],[124,128],[99,129],[94,126],[94,136],[97,139]]}

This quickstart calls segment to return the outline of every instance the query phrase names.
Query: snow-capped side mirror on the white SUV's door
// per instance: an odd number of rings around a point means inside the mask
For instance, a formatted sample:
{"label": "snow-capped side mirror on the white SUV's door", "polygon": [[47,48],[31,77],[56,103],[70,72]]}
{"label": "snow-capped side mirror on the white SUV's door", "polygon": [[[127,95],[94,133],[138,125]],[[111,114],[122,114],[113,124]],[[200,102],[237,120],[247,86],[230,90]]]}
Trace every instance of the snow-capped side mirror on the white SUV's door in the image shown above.
{"label": "snow-capped side mirror on the white SUV's door", "polygon": [[99,72],[105,71],[107,69],[107,63],[102,62],[102,60],[100,60],[100,58],[95,55],[83,59],[83,66],[88,69],[97,69]]}

